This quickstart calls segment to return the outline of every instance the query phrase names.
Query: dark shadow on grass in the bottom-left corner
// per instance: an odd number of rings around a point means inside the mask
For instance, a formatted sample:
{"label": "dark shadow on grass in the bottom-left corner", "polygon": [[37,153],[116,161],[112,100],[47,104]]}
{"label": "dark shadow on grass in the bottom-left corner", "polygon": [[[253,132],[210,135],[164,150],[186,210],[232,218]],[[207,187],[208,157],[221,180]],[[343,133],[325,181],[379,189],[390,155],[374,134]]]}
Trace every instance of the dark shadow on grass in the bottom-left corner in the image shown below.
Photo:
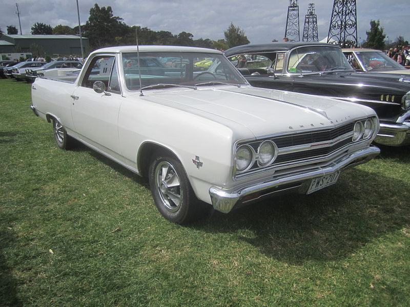
{"label": "dark shadow on grass in the bottom-left corner", "polygon": [[[4,225],[4,224],[3,224]],[[17,281],[6,265],[3,250],[14,241],[12,230],[0,230],[0,306],[23,306],[17,299]]]}

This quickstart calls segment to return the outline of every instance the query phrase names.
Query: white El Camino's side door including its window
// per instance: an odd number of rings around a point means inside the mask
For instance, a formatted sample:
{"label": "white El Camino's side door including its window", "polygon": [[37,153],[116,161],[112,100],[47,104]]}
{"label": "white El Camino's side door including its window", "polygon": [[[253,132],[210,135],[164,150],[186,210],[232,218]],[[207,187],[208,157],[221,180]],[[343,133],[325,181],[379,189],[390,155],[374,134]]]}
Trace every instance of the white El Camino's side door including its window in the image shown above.
{"label": "white El Camino's side door including its window", "polygon": [[[102,81],[104,93],[93,90]],[[121,160],[118,139],[118,113],[122,101],[115,56],[96,55],[72,95],[72,117],[78,138]]]}

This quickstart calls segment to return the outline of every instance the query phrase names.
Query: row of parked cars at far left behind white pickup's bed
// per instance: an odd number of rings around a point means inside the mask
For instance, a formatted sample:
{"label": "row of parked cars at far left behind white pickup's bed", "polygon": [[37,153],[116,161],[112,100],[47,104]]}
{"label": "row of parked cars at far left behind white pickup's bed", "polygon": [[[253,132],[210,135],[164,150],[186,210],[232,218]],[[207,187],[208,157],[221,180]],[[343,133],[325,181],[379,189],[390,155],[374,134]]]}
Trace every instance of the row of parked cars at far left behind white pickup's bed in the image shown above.
{"label": "row of parked cars at far left behind white pickup's bed", "polygon": [[79,71],[83,67],[79,61],[25,61],[11,62],[0,75],[4,78],[14,78],[17,81],[34,82],[35,78],[40,77],[58,77],[65,76],[69,73]]}

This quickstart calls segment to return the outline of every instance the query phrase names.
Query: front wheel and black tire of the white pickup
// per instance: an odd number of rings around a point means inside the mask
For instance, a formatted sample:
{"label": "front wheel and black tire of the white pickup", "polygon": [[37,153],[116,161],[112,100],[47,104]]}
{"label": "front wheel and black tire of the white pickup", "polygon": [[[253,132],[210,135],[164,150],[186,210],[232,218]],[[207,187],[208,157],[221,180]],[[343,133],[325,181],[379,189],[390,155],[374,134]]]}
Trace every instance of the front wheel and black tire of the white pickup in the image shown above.
{"label": "front wheel and black tire of the white pickup", "polygon": [[212,206],[196,198],[182,164],[168,153],[158,152],[154,157],[149,168],[150,189],[162,216],[177,224],[210,216]]}

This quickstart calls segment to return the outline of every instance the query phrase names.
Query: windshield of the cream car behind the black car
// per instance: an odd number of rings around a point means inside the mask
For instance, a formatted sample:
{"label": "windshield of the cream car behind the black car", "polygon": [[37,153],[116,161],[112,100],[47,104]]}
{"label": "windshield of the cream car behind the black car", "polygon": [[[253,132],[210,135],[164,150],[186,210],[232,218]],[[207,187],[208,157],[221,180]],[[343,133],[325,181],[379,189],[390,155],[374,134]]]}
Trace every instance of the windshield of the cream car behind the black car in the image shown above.
{"label": "windshield of the cream car behind the black car", "polygon": [[357,57],[364,65],[366,71],[369,72],[382,72],[391,70],[406,70],[395,60],[389,58],[382,52],[378,51],[365,51],[356,52]]}

